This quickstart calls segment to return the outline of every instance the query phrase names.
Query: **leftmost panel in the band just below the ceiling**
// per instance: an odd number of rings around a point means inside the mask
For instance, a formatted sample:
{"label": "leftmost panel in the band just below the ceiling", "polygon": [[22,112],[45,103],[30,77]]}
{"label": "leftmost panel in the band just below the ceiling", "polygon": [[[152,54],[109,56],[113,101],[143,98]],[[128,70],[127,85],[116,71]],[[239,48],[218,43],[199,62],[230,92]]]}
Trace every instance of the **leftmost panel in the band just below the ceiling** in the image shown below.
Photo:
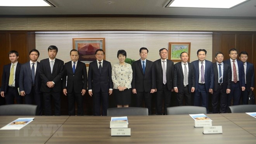
{"label": "leftmost panel in the band just below the ceiling", "polygon": [[26,18],[0,18],[0,30],[27,30]]}

